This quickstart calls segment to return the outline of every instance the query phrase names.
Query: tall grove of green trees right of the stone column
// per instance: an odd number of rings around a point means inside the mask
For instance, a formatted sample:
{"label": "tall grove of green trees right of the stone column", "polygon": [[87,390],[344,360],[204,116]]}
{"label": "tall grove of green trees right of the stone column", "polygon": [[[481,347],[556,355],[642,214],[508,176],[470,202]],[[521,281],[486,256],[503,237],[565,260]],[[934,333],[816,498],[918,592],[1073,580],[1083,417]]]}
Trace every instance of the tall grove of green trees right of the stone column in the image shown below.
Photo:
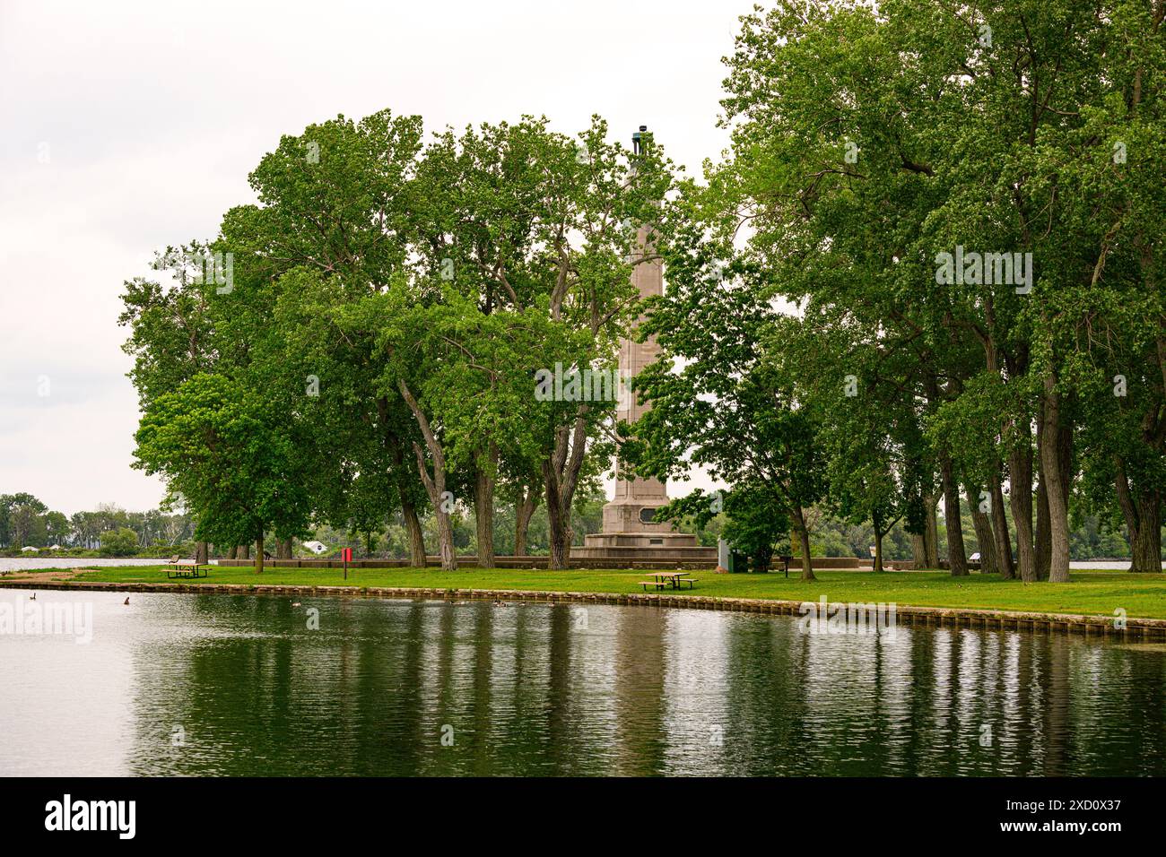
{"label": "tall grove of green trees right of the stone column", "polygon": [[962,494],[1004,577],[1068,579],[1073,506],[1160,571],[1164,17],[1163,0],[744,17],[732,150],[672,206],[639,466],[707,465],[746,535],[788,524],[807,556],[826,501],[878,546],[906,521],[934,567],[942,497],[965,574]]}

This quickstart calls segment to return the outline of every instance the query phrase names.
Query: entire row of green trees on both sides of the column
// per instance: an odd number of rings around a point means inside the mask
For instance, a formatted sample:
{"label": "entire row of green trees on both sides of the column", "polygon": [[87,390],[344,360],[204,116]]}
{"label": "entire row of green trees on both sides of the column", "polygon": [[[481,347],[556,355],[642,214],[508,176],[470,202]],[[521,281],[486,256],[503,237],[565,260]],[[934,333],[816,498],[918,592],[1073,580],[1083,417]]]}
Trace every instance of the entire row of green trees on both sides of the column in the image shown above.
{"label": "entire row of green trees on both sides of the column", "polygon": [[[666,511],[763,559],[823,510],[898,525],[921,566],[1068,578],[1070,508],[1160,569],[1166,485],[1166,1],[779,0],[726,59],[732,148],[681,180],[595,119],[445,131],[343,117],[286,136],[257,204],[126,283],[139,465],[218,545],[475,514],[492,566],[612,463],[730,486]],[[668,293],[630,274],[662,258]],[[653,408],[535,394],[611,368],[641,312]],[[557,388],[556,388],[556,392]],[[947,556],[936,507],[942,500]]]}

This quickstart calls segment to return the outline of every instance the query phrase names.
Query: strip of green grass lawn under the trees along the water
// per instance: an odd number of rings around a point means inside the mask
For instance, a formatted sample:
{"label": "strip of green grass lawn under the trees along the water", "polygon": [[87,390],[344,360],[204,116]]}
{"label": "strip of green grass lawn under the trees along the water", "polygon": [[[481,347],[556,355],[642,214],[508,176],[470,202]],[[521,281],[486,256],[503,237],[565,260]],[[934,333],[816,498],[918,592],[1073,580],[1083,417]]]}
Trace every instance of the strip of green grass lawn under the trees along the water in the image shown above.
{"label": "strip of green grass lawn under the trees along the water", "polygon": [[[1048,613],[1112,616],[1123,607],[1131,618],[1166,618],[1166,575],[1131,575],[1125,571],[1075,571],[1069,583],[1002,581],[997,575],[972,572],[951,577],[943,571],[817,571],[817,581],[803,583],[780,572],[718,575],[694,571],[696,589],[669,595],[831,602],[884,602],[937,607],[986,607]],[[14,575],[15,576],[15,575]],[[78,579],[118,583],[167,583],[161,566],[117,567],[84,571]],[[539,569],[340,569],[271,568],[257,575],[248,568],[212,567],[198,583],[271,585],[413,586],[426,589],[538,589],[573,592],[640,592],[644,571],[547,571]],[[183,581],[189,583],[190,581]],[[174,583],[174,581],[170,581]]]}

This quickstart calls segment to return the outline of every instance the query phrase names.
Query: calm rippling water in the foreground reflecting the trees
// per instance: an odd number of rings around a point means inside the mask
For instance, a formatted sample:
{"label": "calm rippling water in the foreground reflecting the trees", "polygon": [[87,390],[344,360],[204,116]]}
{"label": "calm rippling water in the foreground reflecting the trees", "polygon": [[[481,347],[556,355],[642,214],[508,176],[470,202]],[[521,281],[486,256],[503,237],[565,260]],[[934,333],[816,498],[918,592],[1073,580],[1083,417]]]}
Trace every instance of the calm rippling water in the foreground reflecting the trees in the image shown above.
{"label": "calm rippling water in the foreground reflecting the trees", "polygon": [[[0,590],[0,610],[28,596]],[[1166,774],[1166,645],[814,635],[654,607],[124,599],[37,593],[91,605],[89,644],[0,635],[0,774]]]}

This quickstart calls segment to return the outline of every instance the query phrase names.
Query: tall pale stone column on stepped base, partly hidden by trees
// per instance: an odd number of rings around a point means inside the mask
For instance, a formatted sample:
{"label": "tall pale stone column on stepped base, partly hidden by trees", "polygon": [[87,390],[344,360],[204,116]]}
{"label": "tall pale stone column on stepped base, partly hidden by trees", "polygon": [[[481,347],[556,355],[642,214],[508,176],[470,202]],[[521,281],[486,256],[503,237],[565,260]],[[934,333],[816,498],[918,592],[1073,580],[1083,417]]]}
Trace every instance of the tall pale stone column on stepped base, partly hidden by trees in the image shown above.
{"label": "tall pale stone column on stepped base, partly hidden by trees", "polygon": [[[638,134],[632,135],[632,150],[639,155],[647,136],[647,126],[641,125]],[[663,294],[663,265],[659,259],[649,258],[653,253],[651,226],[641,225],[635,233],[635,247],[628,261],[632,264],[632,285],[640,297]],[[642,317],[641,317],[642,321]],[[654,363],[660,354],[655,337],[649,336],[642,343],[625,338],[619,344],[619,375],[631,379],[641,368]],[[651,405],[641,405],[639,396],[631,391],[620,399],[616,410],[618,420],[634,423]],[[665,484],[654,478],[625,478],[616,465],[616,496],[603,507],[603,532],[589,534],[584,542],[588,547],[688,547],[696,545],[696,536],[677,533],[668,522],[654,522],[652,515],[660,506],[668,503]]]}

